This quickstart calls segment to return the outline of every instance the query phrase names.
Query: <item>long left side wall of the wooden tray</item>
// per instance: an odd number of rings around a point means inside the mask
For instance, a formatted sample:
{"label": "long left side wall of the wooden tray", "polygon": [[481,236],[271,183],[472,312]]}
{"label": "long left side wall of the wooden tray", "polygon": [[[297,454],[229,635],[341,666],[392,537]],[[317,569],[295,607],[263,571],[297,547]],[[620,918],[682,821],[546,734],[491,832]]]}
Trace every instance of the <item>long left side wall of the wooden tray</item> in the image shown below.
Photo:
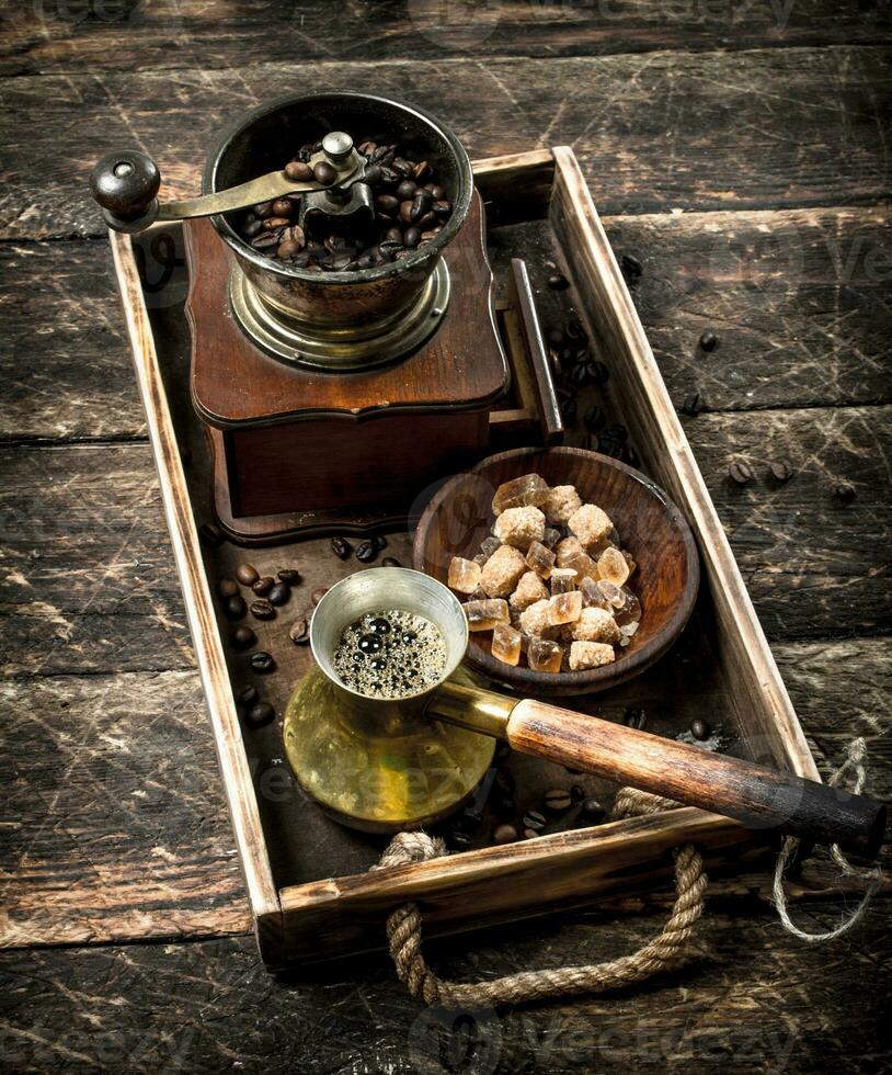
{"label": "long left side wall of the wooden tray", "polygon": [[226,790],[258,944],[264,959],[281,950],[282,915],[273,882],[266,840],[260,822],[248,756],[241,738],[232,688],[220,645],[217,618],[202,561],[176,435],[158,364],[151,326],[129,236],[110,233],[127,336],[149,440],[158,468],[164,517],[183,589],[192,642],[214,729],[217,759]]}

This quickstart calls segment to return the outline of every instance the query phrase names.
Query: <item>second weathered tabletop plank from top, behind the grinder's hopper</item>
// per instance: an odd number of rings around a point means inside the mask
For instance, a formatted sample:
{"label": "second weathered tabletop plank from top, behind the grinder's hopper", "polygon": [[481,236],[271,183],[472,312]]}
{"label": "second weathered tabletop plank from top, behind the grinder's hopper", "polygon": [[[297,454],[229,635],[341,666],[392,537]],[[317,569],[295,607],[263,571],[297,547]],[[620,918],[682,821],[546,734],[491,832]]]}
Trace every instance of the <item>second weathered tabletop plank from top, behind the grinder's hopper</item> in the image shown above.
{"label": "second weathered tabletop plank from top, behind the grinder's hopper", "polygon": [[[874,201],[889,184],[879,149],[889,68],[881,48],[842,47],[507,59],[482,70],[467,59],[350,61],[336,75],[432,108],[473,157],[572,144],[603,213],[642,213]],[[194,192],[211,132],[318,86],[312,65],[291,63],[8,79],[0,237],[99,235],[87,176],[122,145],[159,157],[168,195]]]}

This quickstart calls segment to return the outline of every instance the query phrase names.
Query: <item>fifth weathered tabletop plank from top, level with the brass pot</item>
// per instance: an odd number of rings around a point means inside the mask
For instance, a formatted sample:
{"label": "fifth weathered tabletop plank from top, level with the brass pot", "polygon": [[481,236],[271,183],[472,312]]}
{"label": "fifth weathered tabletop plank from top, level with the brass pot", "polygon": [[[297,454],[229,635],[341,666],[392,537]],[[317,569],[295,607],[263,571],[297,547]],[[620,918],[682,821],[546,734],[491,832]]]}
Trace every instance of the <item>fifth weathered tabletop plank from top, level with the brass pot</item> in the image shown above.
{"label": "fifth weathered tabletop plank from top, level with the brass pot", "polygon": [[[867,790],[879,797],[892,795],[887,648],[882,638],[775,646],[824,774],[864,735]],[[0,688],[0,720],[9,818],[0,947],[250,929],[196,672],[10,681]],[[283,781],[271,769],[258,787],[282,795]],[[817,880],[832,883],[833,871]],[[747,868],[716,891],[765,901],[766,887]]]}

